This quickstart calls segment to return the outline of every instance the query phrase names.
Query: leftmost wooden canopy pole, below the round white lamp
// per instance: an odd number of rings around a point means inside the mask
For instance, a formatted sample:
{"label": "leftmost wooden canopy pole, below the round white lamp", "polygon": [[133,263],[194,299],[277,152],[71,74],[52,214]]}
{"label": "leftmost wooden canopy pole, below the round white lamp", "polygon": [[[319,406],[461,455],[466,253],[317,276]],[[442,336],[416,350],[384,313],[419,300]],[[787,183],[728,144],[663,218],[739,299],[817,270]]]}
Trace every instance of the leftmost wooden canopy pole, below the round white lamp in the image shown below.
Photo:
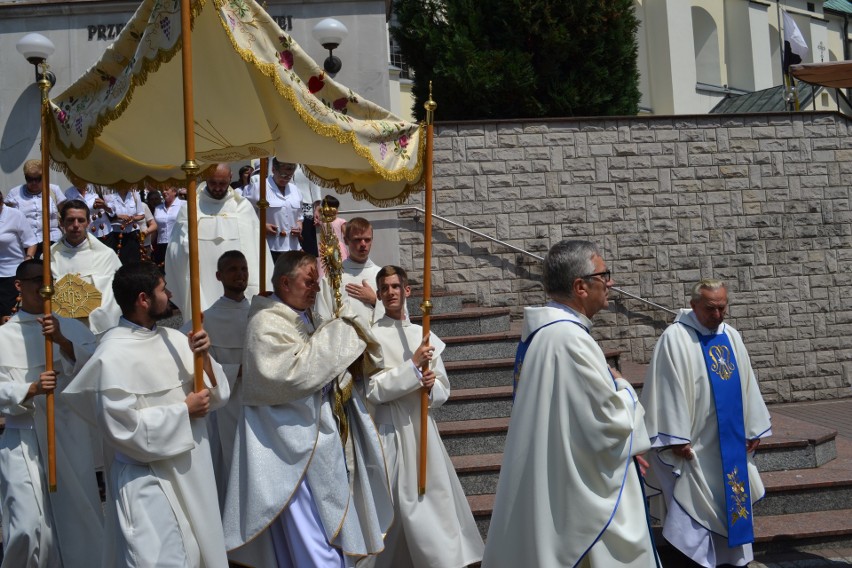
{"label": "leftmost wooden canopy pole, below the round white lamp", "polygon": [[[44,315],[53,313],[53,277],[50,274],[50,152],[48,136],[48,116],[50,116],[50,78],[46,61],[39,63],[41,76],[38,81],[41,89],[41,229],[42,242],[42,286],[39,289],[44,299]],[[44,370],[53,370],[53,340],[44,339]],[[47,406],[47,484],[51,492],[56,491],[56,407],[53,391],[45,395]]]}

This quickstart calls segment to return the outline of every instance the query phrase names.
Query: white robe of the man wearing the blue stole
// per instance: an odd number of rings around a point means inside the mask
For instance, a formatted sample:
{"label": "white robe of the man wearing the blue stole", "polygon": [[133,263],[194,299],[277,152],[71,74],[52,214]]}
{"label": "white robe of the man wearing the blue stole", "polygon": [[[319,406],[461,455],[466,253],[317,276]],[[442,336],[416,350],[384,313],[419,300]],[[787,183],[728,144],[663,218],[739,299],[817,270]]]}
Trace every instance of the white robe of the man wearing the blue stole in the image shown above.
{"label": "white robe of the man wearing the blue stole", "polygon": [[[664,519],[666,540],[703,566],[742,566],[753,558],[752,547],[728,547],[716,405],[696,332],[728,336],[739,367],[746,439],[771,434],[769,411],[740,334],[725,323],[709,330],[692,310],[680,310],[654,348],[642,388],[645,424],[657,448],[649,453],[648,485],[662,490],[664,501],[654,503],[653,510]],[[685,443],[691,444],[695,459],[684,460],[666,449]],[[754,503],[764,488],[753,456],[748,456],[748,477]]]}

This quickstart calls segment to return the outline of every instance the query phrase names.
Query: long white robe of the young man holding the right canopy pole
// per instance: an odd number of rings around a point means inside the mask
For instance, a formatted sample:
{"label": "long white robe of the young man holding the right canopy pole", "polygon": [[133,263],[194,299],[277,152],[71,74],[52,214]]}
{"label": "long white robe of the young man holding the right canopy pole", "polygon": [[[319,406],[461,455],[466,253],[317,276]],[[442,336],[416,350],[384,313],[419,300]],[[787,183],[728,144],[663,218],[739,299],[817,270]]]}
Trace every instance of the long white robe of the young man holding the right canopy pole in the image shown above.
{"label": "long white robe of the young man holding the right canopy pole", "polygon": [[[417,471],[420,440],[420,374],[411,356],[423,339],[423,328],[387,316],[373,325],[382,346],[386,370],[370,377],[367,399],[375,404],[374,419],[382,437],[394,498],[394,522],[376,567],[461,568],[482,559],[482,537],[438,425],[427,419],[426,495],[419,497]],[[433,334],[431,368],[435,384],[430,408],[450,396],[450,382],[441,360],[444,343]]]}

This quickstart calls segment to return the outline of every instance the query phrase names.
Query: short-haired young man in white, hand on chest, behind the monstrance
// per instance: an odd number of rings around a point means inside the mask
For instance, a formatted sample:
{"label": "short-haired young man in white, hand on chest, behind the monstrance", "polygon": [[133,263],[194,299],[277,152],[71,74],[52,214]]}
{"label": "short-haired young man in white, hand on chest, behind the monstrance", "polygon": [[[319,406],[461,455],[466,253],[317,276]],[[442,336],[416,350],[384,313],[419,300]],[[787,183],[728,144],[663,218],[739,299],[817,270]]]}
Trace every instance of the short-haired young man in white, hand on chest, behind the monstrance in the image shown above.
{"label": "short-haired young man in white, hand on chest, behind the monstrance", "polygon": [[[381,269],[370,260],[373,226],[363,217],[350,219],[344,228],[343,242],[349,249],[349,258],[343,261],[343,289],[340,291],[343,302],[372,325],[385,315],[385,308],[373,289]],[[334,290],[328,278],[320,285],[317,313],[323,321],[334,317]]]}

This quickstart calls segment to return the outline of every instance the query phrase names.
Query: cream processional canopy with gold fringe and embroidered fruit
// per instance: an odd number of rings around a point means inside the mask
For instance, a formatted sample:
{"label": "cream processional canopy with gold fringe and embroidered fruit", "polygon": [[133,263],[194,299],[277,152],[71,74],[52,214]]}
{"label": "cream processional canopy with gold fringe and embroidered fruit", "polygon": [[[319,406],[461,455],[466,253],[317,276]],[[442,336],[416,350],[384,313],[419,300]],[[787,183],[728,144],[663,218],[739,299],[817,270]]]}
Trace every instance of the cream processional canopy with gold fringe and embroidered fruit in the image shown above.
{"label": "cream processional canopy with gold fringe and embroidered fruit", "polygon": [[[53,165],[107,187],[185,182],[180,0],[144,0],[51,101]],[[254,0],[192,3],[195,159],[279,156],[376,205],[423,187],[426,135],[335,82]]]}

